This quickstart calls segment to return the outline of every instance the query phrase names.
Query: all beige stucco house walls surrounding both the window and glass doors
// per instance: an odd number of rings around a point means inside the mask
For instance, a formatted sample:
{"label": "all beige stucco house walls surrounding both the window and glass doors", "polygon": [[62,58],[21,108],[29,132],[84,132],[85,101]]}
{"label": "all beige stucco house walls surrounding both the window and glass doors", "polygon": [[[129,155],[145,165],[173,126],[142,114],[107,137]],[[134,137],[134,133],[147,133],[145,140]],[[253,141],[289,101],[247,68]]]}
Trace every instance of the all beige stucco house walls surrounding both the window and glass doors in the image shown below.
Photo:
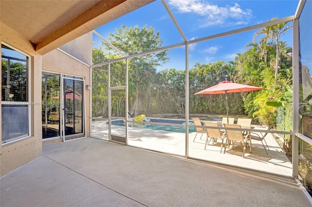
{"label": "all beige stucco house walls surrounding both the window and glass doors", "polygon": [[[90,83],[90,68],[74,58],[54,50],[41,56],[34,51],[31,43],[22,35],[1,23],[1,42],[13,49],[23,52],[31,59],[30,62],[30,94],[29,101],[41,102],[41,73],[42,69],[54,73],[63,73],[84,77],[85,85]],[[83,49],[84,47],[84,49]],[[82,62],[92,62],[92,34],[86,34],[68,43],[62,49],[77,57]],[[85,112],[86,112],[86,135],[90,136],[90,90],[85,90]],[[41,105],[31,105],[30,112],[30,136],[0,147],[0,176],[3,176],[20,166],[32,161],[42,155],[42,127],[41,127]],[[1,107],[0,107],[1,110]],[[1,112],[1,111],[0,111]],[[0,117],[1,121],[1,117]],[[2,120],[5,121],[5,120]],[[0,126],[1,127],[1,126]],[[0,134],[1,136],[1,134]]]}

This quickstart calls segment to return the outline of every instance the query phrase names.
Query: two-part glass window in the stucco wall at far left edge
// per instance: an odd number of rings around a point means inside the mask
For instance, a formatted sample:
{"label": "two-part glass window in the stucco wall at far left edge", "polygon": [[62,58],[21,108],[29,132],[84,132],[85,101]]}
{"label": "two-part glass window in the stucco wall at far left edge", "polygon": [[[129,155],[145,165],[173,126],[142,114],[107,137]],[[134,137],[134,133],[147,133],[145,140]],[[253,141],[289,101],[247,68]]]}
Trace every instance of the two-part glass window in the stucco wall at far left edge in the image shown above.
{"label": "two-part glass window in the stucco wall at far left edge", "polygon": [[28,57],[1,44],[2,143],[29,135]]}

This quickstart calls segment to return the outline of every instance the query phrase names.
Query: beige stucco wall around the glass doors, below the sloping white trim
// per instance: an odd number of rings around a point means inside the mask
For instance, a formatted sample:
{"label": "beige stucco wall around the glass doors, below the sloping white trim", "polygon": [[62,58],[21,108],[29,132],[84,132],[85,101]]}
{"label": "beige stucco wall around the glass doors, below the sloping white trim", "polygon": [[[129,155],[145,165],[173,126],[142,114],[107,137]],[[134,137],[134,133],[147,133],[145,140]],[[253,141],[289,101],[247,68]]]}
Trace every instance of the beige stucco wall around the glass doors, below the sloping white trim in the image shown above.
{"label": "beige stucco wall around the glass doors, below the sloping white trim", "polygon": [[[72,45],[72,47],[72,50],[75,50],[74,45]],[[89,53],[92,54],[92,49],[91,51],[89,51]],[[91,85],[90,67],[80,63],[78,60],[64,54],[59,50],[48,52],[47,54],[44,54],[42,56],[42,70],[58,74],[62,73],[67,75],[84,77],[85,85]],[[84,92],[86,105],[86,135],[90,137],[90,90],[86,90],[86,88],[84,88]]]}

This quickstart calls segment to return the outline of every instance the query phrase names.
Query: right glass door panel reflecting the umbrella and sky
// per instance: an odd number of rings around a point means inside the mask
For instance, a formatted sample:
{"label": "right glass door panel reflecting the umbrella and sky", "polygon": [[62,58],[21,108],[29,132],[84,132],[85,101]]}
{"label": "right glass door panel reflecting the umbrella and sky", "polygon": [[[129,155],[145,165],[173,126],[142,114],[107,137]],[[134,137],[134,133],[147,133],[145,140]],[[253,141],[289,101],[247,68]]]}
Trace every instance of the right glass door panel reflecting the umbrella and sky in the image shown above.
{"label": "right glass door panel reflecting the umbrella and sky", "polygon": [[85,137],[84,81],[63,78],[64,141]]}

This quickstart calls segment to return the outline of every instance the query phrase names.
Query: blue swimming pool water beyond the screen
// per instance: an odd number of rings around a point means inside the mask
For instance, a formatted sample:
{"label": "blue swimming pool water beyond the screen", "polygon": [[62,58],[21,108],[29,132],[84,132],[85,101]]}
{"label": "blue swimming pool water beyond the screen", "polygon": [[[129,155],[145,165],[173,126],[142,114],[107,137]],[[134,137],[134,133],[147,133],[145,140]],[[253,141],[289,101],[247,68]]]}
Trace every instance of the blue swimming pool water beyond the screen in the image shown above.
{"label": "blue swimming pool water beyond the screen", "polygon": [[[159,119],[151,119],[151,122],[158,122],[158,123],[176,123],[176,124],[185,124],[185,121],[180,120],[159,120]],[[112,121],[113,125],[118,126],[125,126],[125,123],[122,120]],[[189,124],[194,124],[193,121],[190,121]],[[129,123],[129,127],[134,128],[144,128],[144,129],[151,129],[151,130],[163,130],[168,132],[180,132],[185,133],[184,126],[168,126],[168,125],[158,125],[158,124],[150,124],[150,122],[146,123]],[[196,132],[195,127],[189,128],[189,133]]]}

